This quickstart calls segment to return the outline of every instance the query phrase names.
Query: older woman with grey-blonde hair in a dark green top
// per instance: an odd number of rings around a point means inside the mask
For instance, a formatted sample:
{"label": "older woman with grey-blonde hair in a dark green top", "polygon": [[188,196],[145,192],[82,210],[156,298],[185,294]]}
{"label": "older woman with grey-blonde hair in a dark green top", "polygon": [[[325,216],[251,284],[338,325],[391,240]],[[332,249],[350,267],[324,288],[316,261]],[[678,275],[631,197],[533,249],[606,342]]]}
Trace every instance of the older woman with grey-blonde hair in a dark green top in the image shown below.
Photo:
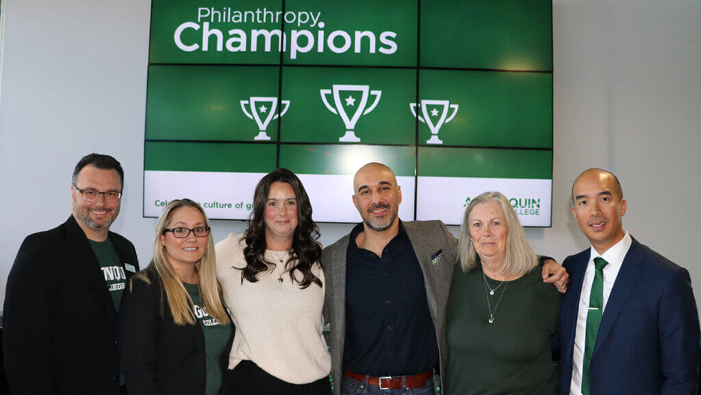
{"label": "older woman with grey-blonde hair in a dark green top", "polygon": [[447,307],[445,394],[554,394],[550,335],[560,296],[543,282],[514,208],[499,192],[470,202]]}

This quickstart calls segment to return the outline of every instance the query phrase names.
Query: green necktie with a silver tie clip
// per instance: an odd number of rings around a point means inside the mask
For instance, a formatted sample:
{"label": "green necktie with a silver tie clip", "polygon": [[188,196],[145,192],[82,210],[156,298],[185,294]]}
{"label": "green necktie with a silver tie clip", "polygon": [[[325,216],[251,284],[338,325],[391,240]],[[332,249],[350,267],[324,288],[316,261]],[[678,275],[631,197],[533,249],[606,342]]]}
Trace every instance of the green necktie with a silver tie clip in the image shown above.
{"label": "green necktie with a silver tie clip", "polygon": [[604,310],[604,267],[608,262],[602,257],[594,258],[594,282],[592,293],[589,295],[589,311],[587,312],[587,337],[584,340],[584,366],[582,369],[582,394],[589,395],[589,365],[592,362],[594,344],[597,343],[597,333],[601,324],[601,313]]}

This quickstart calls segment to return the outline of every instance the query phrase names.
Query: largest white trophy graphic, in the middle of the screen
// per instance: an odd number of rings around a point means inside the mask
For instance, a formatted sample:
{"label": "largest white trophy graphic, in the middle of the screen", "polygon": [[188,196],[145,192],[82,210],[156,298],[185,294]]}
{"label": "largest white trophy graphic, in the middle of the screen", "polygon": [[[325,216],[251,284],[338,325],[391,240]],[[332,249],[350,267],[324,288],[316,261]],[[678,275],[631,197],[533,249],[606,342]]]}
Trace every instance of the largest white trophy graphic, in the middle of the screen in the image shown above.
{"label": "largest white trophy graphic, in the middle of the screen", "polygon": [[[326,96],[332,92],[334,95],[335,107],[329,105],[329,101],[326,98]],[[341,98],[341,92],[348,92],[348,98]],[[355,100],[358,99],[353,98],[354,92],[360,93],[360,102],[358,102],[358,105],[356,105],[355,103]],[[382,96],[382,91],[370,91],[370,87],[368,85],[334,84],[332,86],[332,89],[321,89],[320,93],[321,100],[323,100],[326,108],[329,109],[330,112],[340,115],[341,119],[343,120],[343,123],[346,125],[346,134],[343,135],[343,137],[339,138],[339,141],[359,142],[360,138],[358,138],[355,135],[355,132],[353,131],[353,129],[355,129],[355,123],[358,122],[358,119],[361,115],[369,114],[369,112],[375,109],[377,103],[380,101],[380,97]],[[369,95],[373,95],[375,97],[375,100],[374,102],[372,102],[372,105],[370,105],[370,107],[367,107],[367,109],[365,109],[365,106],[367,105],[367,97]],[[341,100],[346,102],[345,106],[343,105]],[[346,112],[346,107],[353,107],[353,111]],[[349,113],[351,114],[351,116],[348,116]]]}

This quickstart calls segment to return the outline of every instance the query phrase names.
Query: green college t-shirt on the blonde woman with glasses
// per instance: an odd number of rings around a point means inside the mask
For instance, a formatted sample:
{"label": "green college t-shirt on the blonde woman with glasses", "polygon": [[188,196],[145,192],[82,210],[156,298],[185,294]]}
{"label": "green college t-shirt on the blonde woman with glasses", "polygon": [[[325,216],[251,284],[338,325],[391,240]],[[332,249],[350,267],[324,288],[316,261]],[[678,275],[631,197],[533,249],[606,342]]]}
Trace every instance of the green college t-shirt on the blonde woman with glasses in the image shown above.
{"label": "green college t-shirt on the blonde woman with glasses", "polygon": [[231,325],[222,325],[205,312],[197,284],[182,284],[195,304],[195,316],[205,334],[205,363],[207,364],[205,395],[217,395],[219,387],[222,387],[222,352],[231,337]]}

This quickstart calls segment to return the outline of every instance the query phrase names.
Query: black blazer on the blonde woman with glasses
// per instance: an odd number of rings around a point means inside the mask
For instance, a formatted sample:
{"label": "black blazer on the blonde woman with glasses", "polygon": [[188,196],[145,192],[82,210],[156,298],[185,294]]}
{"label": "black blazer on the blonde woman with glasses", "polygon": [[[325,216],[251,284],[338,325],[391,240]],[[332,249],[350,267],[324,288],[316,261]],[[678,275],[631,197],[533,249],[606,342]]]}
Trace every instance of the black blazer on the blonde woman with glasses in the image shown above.
{"label": "black blazer on the blonde woman with glasses", "polygon": [[[150,284],[132,281],[122,296],[119,342],[122,371],[130,395],[204,395],[207,376],[205,336],[196,322],[173,322],[160,277],[147,269]],[[233,325],[233,324],[232,324]],[[222,370],[229,361],[229,344],[222,353]],[[224,387],[226,380],[222,380]],[[220,393],[226,393],[224,389]]]}

